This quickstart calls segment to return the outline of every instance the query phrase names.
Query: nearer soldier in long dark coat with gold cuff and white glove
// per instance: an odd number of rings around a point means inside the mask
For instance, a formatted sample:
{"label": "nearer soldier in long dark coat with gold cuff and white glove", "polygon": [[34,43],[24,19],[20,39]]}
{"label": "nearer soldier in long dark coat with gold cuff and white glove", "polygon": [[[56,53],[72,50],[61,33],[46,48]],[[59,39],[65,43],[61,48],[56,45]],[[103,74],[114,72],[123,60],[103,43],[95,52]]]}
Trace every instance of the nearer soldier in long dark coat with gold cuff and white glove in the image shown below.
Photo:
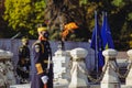
{"label": "nearer soldier in long dark coat with gold cuff and white glove", "polygon": [[52,51],[46,28],[38,28],[38,40],[33,44],[31,88],[53,88]]}

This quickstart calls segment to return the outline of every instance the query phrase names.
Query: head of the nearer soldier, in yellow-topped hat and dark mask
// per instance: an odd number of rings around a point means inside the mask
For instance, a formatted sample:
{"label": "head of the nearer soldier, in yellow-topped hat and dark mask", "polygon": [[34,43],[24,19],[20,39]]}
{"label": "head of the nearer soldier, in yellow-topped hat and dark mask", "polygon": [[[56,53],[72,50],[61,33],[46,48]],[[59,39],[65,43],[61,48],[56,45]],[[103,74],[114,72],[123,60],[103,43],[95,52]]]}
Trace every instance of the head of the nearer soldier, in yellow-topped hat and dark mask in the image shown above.
{"label": "head of the nearer soldier, in yellow-topped hat and dark mask", "polygon": [[48,38],[48,32],[47,32],[47,28],[46,26],[40,26],[37,28],[37,32],[38,32],[38,35],[40,37],[42,38]]}

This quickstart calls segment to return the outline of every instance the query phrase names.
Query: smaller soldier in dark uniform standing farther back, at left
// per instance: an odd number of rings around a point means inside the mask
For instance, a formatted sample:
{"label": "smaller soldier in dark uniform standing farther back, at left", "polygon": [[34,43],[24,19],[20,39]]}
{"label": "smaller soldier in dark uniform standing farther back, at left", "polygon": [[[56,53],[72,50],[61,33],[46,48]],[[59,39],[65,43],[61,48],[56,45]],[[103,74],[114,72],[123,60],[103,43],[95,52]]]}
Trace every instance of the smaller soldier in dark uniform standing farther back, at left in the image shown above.
{"label": "smaller soldier in dark uniform standing farther back, at left", "polygon": [[19,62],[16,64],[16,74],[20,78],[20,84],[29,82],[30,77],[30,48],[29,38],[22,38],[22,45],[19,47]]}

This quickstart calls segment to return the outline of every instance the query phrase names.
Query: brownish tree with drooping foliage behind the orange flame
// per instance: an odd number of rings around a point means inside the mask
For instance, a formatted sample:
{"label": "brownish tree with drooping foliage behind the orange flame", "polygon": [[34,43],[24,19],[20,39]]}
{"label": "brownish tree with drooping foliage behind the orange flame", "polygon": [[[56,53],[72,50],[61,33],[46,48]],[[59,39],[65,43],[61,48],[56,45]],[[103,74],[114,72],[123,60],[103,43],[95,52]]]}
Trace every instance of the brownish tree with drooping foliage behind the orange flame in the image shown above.
{"label": "brownish tree with drooping foliage behind the orange flame", "polygon": [[[46,20],[48,20],[48,26],[52,29],[52,33],[62,32],[65,24],[75,22],[79,26],[76,31],[68,34],[68,41],[87,41],[88,28],[86,23],[86,11],[80,6],[79,0],[50,0],[47,1],[47,8],[45,9]],[[59,36],[58,34],[55,34]],[[56,36],[53,35],[52,38]]]}

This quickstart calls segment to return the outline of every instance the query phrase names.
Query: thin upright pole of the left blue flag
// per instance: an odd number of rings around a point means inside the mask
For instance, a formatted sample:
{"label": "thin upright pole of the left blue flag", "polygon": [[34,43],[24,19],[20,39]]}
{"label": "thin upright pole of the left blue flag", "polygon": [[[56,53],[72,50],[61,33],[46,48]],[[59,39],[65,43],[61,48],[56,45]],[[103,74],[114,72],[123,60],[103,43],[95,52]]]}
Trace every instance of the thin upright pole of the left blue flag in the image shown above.
{"label": "thin upright pole of the left blue flag", "polygon": [[97,34],[97,30],[98,30],[98,20],[97,20],[97,11],[95,11],[95,22],[96,22],[96,51],[95,51],[95,63],[96,63],[96,72],[97,72],[97,77],[98,77],[98,34]]}

